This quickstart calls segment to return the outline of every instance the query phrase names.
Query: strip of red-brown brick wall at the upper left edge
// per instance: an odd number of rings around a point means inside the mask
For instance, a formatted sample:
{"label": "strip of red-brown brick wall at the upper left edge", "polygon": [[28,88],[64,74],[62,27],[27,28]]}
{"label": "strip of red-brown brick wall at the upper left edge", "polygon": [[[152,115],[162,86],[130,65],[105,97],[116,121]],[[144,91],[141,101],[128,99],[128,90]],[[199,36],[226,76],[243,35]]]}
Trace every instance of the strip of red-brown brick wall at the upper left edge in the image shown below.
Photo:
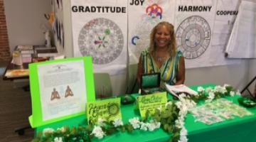
{"label": "strip of red-brown brick wall at the upper left edge", "polygon": [[0,61],[10,59],[6,16],[4,13],[4,0],[0,0]]}

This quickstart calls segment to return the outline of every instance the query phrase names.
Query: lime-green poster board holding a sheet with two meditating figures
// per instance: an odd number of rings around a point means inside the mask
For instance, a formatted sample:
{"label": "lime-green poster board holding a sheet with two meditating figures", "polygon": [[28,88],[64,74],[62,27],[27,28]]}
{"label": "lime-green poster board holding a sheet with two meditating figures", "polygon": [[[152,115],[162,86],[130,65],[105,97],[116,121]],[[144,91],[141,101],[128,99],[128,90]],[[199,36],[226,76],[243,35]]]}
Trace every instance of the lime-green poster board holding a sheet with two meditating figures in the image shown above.
{"label": "lime-green poster board holding a sheet with two meditating figures", "polygon": [[36,62],[28,68],[32,128],[85,115],[86,103],[95,102],[91,57]]}

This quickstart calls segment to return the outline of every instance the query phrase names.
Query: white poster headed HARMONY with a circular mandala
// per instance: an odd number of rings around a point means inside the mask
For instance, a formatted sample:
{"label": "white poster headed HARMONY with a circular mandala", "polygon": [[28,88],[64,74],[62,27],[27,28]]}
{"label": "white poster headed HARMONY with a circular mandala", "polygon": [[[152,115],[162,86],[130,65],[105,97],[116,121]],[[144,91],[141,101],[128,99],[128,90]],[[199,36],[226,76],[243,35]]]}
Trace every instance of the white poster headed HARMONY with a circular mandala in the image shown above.
{"label": "white poster headed HARMONY with a circular mandala", "polygon": [[176,40],[186,67],[211,66],[211,38],[217,1],[176,1]]}

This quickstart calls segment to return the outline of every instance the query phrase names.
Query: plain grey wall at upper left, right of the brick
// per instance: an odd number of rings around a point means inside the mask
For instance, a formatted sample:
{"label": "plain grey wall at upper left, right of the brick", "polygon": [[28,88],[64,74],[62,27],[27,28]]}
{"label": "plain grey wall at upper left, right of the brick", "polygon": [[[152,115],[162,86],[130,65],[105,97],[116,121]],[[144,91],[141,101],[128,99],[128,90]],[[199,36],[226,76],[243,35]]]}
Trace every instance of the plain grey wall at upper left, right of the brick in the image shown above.
{"label": "plain grey wall at upper left, right of the brick", "polygon": [[44,13],[50,13],[50,0],[4,0],[10,51],[16,45],[44,45]]}

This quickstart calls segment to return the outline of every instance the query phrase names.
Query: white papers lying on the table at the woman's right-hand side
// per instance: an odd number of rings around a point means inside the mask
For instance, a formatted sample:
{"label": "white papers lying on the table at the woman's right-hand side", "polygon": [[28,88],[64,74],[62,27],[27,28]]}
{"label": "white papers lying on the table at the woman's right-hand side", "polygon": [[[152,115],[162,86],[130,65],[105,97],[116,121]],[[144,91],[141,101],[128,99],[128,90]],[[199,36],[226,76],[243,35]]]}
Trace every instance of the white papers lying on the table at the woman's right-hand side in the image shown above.
{"label": "white papers lying on the table at the woman's right-hand side", "polygon": [[169,85],[166,84],[166,90],[173,94],[175,97],[178,97],[179,94],[198,94],[198,92],[194,91],[193,89],[190,89],[185,84],[178,84],[178,85]]}

